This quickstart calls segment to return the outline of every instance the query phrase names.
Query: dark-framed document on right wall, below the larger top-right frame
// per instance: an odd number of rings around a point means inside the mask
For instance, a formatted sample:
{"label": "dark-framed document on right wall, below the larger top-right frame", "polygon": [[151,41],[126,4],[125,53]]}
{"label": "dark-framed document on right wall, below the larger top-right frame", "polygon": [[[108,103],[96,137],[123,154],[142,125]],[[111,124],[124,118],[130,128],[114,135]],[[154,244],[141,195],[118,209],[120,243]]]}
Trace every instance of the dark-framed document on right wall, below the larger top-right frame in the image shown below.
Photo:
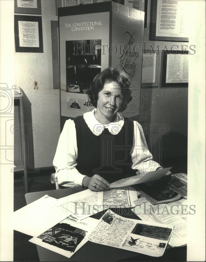
{"label": "dark-framed document on right wall, below the larger top-right frame", "polygon": [[[182,57],[183,59],[185,58],[185,61],[180,61],[179,56],[177,57],[176,55],[187,55],[187,57]],[[181,51],[181,50],[165,50],[163,51],[163,58],[162,58],[162,87],[188,87],[188,80],[181,80],[181,75],[186,75],[188,73],[188,67],[189,64],[186,64],[188,62],[188,51]],[[169,57],[171,56],[172,59],[168,60]],[[173,56],[173,57],[172,57]],[[176,56],[176,57],[175,57]],[[173,59],[174,58],[174,59]],[[176,61],[175,61],[176,58]],[[170,68],[170,63],[175,63],[176,64],[171,64]],[[185,66],[183,66],[185,65]],[[178,69],[181,69],[179,72]],[[183,71],[184,70],[184,71]],[[173,74],[173,76],[177,75],[177,79],[172,79],[168,80],[168,74]],[[180,77],[179,77],[180,75]],[[180,79],[179,79],[180,78]]]}

